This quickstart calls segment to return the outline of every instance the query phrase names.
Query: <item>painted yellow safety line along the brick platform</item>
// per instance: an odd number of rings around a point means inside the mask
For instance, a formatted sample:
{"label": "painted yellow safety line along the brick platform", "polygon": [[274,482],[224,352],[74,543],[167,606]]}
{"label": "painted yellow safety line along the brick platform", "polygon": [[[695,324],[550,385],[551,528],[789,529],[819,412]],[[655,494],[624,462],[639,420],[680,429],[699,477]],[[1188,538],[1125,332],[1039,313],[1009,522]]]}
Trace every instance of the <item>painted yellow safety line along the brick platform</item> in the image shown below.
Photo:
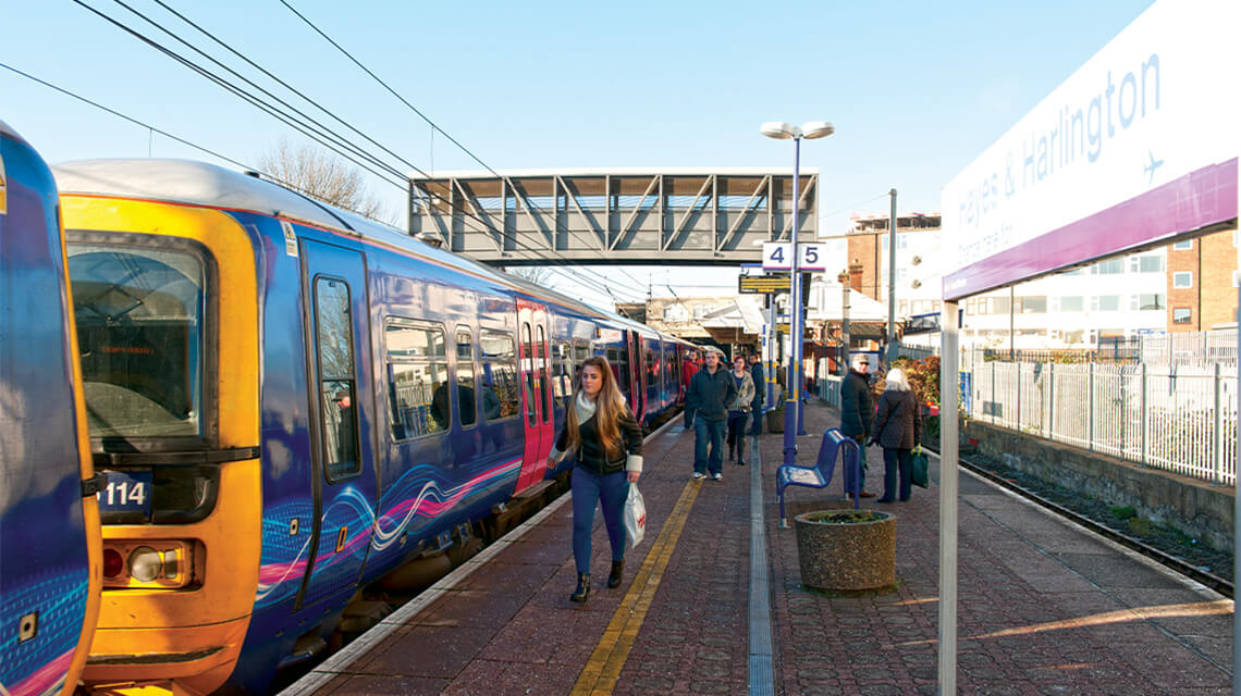
{"label": "painted yellow safety line along the brick platform", "polygon": [[676,550],[676,541],[681,537],[681,530],[685,529],[685,521],[690,516],[690,509],[694,507],[694,500],[701,486],[702,481],[685,484],[680,499],[676,500],[671,515],[668,516],[664,529],[659,532],[659,538],[652,545],[650,553],[647,555],[642,568],[634,576],[629,592],[620,600],[616,614],[612,614],[612,622],[603,630],[603,638],[599,639],[591,658],[586,661],[582,674],[578,675],[577,684],[570,692],[572,696],[612,694],[617,680],[620,679],[620,669],[624,667],[624,663],[629,658],[633,641],[638,638],[642,622],[647,618],[647,610],[650,609],[650,602],[655,598],[655,591],[659,589],[659,581],[664,577],[664,571],[668,569],[673,551]]}

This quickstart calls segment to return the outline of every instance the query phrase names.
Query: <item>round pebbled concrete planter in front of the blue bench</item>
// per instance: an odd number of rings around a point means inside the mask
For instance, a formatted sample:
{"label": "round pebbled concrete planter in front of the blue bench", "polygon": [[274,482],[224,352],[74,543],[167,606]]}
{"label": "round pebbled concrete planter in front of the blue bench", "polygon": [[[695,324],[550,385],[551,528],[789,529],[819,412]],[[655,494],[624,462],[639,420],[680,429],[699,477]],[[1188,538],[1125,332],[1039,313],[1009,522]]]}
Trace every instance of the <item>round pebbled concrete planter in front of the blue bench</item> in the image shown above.
{"label": "round pebbled concrete planter in front of the blue bench", "polygon": [[[856,520],[861,515],[862,521]],[[877,589],[896,584],[896,516],[879,510],[815,510],[794,517],[802,584]]]}

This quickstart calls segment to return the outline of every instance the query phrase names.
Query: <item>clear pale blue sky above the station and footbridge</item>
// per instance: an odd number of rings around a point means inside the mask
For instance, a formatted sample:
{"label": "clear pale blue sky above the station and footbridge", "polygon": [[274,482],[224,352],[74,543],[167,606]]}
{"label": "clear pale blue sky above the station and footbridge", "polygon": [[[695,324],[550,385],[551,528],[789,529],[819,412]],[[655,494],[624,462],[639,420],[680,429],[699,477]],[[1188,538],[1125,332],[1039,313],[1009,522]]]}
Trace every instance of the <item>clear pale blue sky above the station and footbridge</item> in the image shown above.
{"label": "clear pale blue sky above the station and footbridge", "polygon": [[[153,0],[127,1],[241,65]],[[418,167],[480,169],[278,0],[165,1]],[[83,2],[175,45],[112,0]],[[892,187],[902,212],[938,211],[948,180],[1152,0],[828,1],[781,14],[731,1],[289,2],[496,170],[789,167],[792,145],[758,125],[830,120],[835,135],[807,141],[802,164],[819,169],[820,228],[834,234],[853,212],[886,211]],[[253,163],[300,138],[72,0],[14,0],[0,15],[0,63],[205,148]],[[0,119],[52,163],[212,160],[2,68]],[[403,208],[397,187],[372,190]],[[731,269],[629,273],[650,274],[655,295],[669,294],[665,277],[683,297],[727,292],[689,283],[735,287]]]}

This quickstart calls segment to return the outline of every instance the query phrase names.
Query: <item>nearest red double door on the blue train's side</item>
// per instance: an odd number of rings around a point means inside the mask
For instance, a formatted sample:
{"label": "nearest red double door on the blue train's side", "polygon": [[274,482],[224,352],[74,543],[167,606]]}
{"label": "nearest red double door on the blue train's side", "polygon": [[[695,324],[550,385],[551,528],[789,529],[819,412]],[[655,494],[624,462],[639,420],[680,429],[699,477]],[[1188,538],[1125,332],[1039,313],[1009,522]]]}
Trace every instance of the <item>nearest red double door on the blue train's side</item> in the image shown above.
{"label": "nearest red double door on the blue train's side", "polygon": [[515,493],[542,480],[544,471],[547,470],[552,439],[556,437],[552,432],[547,308],[520,298],[517,299],[517,365],[525,404],[522,419],[525,452]]}

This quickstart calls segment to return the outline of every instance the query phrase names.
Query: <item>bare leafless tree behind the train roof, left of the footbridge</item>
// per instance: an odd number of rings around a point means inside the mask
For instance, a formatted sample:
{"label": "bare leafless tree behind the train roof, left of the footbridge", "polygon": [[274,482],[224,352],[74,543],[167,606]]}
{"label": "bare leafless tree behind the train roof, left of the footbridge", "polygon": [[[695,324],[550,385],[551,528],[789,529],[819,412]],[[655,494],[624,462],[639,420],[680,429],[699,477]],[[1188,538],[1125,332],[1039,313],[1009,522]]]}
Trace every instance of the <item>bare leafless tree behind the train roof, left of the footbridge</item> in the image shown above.
{"label": "bare leafless tree behind the train roof, left of the footbridge", "polygon": [[309,143],[293,145],[282,138],[258,156],[258,166],[277,184],[311,199],[391,222],[387,207],[366,189],[361,171]]}

